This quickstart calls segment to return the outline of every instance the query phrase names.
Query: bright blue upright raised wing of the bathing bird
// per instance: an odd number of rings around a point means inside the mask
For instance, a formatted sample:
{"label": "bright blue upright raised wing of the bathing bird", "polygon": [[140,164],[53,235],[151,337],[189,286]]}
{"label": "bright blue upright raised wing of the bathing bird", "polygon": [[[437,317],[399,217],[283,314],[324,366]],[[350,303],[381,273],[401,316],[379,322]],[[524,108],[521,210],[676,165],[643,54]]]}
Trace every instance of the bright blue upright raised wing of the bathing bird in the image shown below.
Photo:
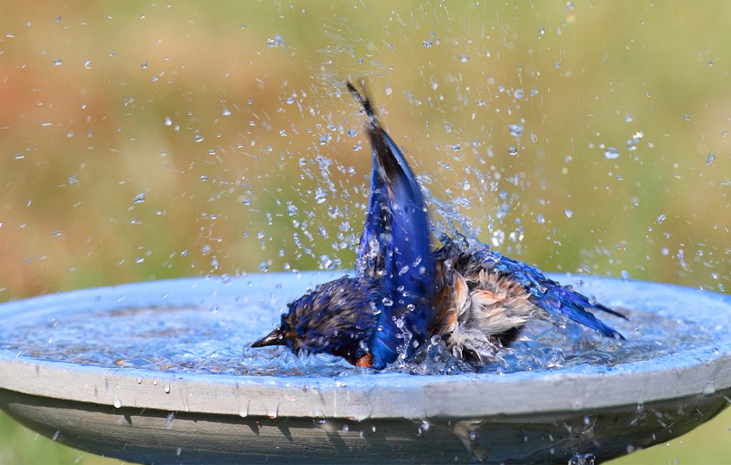
{"label": "bright blue upright raised wing of the bathing bird", "polygon": [[384,283],[379,327],[370,342],[373,366],[380,368],[400,352],[410,355],[412,342],[428,337],[434,264],[426,207],[414,173],[379,126],[370,101],[350,83],[348,89],[366,110],[373,151],[371,198],[356,266],[361,276],[382,275]]}

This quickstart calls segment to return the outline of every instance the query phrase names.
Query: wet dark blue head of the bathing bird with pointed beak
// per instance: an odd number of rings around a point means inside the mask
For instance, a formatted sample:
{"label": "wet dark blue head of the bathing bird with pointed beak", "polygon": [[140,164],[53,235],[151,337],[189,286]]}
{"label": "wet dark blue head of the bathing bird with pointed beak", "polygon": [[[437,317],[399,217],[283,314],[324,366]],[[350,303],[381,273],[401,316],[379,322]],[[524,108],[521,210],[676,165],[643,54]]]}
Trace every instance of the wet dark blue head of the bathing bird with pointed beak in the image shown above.
{"label": "wet dark blue head of the bathing bird with pointed beak", "polygon": [[376,327],[378,286],[341,277],[289,304],[281,324],[251,347],[284,345],[293,353],[330,353],[370,366],[368,340]]}

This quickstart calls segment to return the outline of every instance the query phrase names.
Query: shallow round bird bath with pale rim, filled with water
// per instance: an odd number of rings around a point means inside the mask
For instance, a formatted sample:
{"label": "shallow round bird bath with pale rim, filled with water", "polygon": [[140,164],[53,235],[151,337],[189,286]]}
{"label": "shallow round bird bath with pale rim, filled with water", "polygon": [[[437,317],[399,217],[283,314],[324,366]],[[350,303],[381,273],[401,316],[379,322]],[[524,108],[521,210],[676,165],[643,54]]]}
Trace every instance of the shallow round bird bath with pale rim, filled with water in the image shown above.
{"label": "shallow round bird bath with pale rim, filled with water", "polygon": [[538,326],[479,372],[372,372],[249,347],[332,277],[180,279],[3,304],[0,408],[58,442],[143,463],[566,463],[677,437],[731,396],[731,299],[673,285],[582,277],[581,292],[626,309],[629,321],[613,320],[626,341]]}

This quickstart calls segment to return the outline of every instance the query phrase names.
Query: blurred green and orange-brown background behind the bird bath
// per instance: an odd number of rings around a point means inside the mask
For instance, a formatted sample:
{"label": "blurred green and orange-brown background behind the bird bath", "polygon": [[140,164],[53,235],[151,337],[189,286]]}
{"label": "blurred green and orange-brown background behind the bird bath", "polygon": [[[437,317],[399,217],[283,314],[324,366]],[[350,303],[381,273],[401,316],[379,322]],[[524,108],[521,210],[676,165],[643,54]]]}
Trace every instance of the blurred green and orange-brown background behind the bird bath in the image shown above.
{"label": "blurred green and orange-brown background behind the bird bath", "polygon": [[[352,265],[367,77],[438,220],[727,292],[727,2],[6,2],[0,301]],[[439,202],[447,202],[438,207]],[[731,414],[614,464],[731,463]],[[112,464],[0,414],[0,463]]]}

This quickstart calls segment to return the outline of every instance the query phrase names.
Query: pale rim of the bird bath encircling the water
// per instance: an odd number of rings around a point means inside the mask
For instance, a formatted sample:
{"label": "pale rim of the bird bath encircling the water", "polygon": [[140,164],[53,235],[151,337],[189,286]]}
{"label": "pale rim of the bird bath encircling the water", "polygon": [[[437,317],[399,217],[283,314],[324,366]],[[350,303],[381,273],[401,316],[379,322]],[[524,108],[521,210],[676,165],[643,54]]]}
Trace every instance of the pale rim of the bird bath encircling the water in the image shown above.
{"label": "pale rim of the bird bath encircling the water", "polygon": [[[47,314],[54,308],[64,308],[64,302],[81,299],[93,301],[95,307],[102,310],[150,304],[205,304],[210,299],[235,299],[245,292],[245,283],[256,281],[260,276],[182,278],[39,296],[0,305],[0,319],[5,320],[18,312]],[[272,280],[277,274],[265,276]],[[281,274],[281,292],[286,292],[288,286],[302,286],[301,282],[296,283],[295,276],[300,275]],[[301,276],[322,282],[336,274],[302,273]],[[568,281],[565,274],[558,279]],[[589,284],[607,281],[607,278],[596,277],[581,279]],[[731,297],[711,291],[658,283],[611,281],[666,294],[697,293],[704,299],[731,305]],[[161,293],[165,288],[187,291],[179,292],[179,295]],[[710,312],[705,308],[694,311]],[[0,388],[118,408],[242,417],[420,419],[591,410],[710,395],[731,388],[731,328],[716,331],[725,332],[726,337],[712,347],[697,347],[616,366],[582,364],[550,372],[512,372],[504,376],[480,373],[408,376],[369,372],[346,377],[282,377],[172,373],[73,364],[0,350]]]}

